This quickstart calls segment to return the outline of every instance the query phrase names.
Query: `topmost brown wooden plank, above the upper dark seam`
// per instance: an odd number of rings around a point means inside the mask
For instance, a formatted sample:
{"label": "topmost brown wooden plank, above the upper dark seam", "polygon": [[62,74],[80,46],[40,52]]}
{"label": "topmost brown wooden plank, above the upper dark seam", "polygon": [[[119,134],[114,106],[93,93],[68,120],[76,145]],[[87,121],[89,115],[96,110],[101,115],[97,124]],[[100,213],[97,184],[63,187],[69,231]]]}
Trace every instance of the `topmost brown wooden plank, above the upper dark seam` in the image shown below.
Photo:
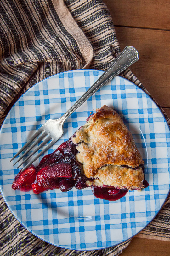
{"label": "topmost brown wooden plank, above the upper dark seam", "polygon": [[104,0],[114,25],[170,29],[169,0]]}

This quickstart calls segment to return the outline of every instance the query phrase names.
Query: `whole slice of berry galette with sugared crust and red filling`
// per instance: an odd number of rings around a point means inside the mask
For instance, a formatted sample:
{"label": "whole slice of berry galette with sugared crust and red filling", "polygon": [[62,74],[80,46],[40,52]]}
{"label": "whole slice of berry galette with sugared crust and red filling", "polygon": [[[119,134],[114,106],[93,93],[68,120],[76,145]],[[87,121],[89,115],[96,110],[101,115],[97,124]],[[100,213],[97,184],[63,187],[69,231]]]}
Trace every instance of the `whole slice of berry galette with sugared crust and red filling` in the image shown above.
{"label": "whole slice of berry galette with sugared crust and red filling", "polygon": [[21,170],[12,189],[32,188],[38,194],[48,189],[66,192],[90,186],[96,197],[113,201],[128,190],[148,186],[144,162],[130,131],[116,111],[106,105],[37,167]]}

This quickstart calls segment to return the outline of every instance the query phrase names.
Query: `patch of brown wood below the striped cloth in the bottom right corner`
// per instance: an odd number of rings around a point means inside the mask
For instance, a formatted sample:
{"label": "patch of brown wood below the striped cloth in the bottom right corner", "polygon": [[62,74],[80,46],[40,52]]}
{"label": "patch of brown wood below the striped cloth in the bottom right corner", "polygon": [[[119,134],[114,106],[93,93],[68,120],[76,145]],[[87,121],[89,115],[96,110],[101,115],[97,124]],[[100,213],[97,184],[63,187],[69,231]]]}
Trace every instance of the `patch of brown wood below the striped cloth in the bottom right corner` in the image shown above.
{"label": "patch of brown wood below the striped cloth in the bottom right corner", "polygon": [[120,256],[169,256],[170,242],[134,237]]}

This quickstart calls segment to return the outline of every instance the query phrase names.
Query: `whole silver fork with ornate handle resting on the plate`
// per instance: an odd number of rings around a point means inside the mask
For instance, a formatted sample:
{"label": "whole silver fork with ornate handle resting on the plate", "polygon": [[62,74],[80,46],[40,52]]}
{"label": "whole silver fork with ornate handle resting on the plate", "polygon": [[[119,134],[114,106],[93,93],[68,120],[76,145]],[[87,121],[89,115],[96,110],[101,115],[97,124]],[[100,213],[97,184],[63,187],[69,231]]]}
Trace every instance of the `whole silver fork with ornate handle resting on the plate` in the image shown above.
{"label": "whole silver fork with ornate handle resting on the plate", "polygon": [[37,146],[37,148],[28,155],[23,162],[17,167],[19,168],[24,164],[32,155],[34,155],[45,143],[52,140],[48,145],[36,155],[23,169],[24,171],[29,165],[31,165],[37,158],[40,157],[47,149],[49,149],[62,135],[63,135],[63,124],[65,120],[73,113],[78,107],[82,105],[90,96],[98,91],[103,85],[113,79],[115,76],[126,70],[129,66],[139,60],[138,51],[133,46],[126,46],[122,53],[116,58],[116,60],[110,65],[110,67],[99,77],[99,79],[82,95],[82,97],[76,101],[76,103],[59,119],[49,119],[42,127],[40,127],[36,133],[28,140],[28,142],[17,152],[16,155],[10,160],[14,160],[41,132],[42,135],[23,153],[22,156],[14,163],[19,162],[37,143],[39,143],[45,136],[43,142]]}

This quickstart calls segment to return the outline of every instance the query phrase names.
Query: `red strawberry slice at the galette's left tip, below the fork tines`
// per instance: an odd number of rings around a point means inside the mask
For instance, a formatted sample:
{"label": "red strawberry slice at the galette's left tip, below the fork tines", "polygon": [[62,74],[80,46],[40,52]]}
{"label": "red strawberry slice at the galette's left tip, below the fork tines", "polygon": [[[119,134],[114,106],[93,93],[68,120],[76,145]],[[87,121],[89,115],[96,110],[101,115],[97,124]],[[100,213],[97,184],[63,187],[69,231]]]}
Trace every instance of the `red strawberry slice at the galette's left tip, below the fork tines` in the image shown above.
{"label": "red strawberry slice at the galette's left tip, below the fork tines", "polygon": [[17,174],[13,183],[12,189],[17,189],[23,186],[31,185],[36,179],[36,168],[33,165],[30,165],[23,172],[22,170]]}

